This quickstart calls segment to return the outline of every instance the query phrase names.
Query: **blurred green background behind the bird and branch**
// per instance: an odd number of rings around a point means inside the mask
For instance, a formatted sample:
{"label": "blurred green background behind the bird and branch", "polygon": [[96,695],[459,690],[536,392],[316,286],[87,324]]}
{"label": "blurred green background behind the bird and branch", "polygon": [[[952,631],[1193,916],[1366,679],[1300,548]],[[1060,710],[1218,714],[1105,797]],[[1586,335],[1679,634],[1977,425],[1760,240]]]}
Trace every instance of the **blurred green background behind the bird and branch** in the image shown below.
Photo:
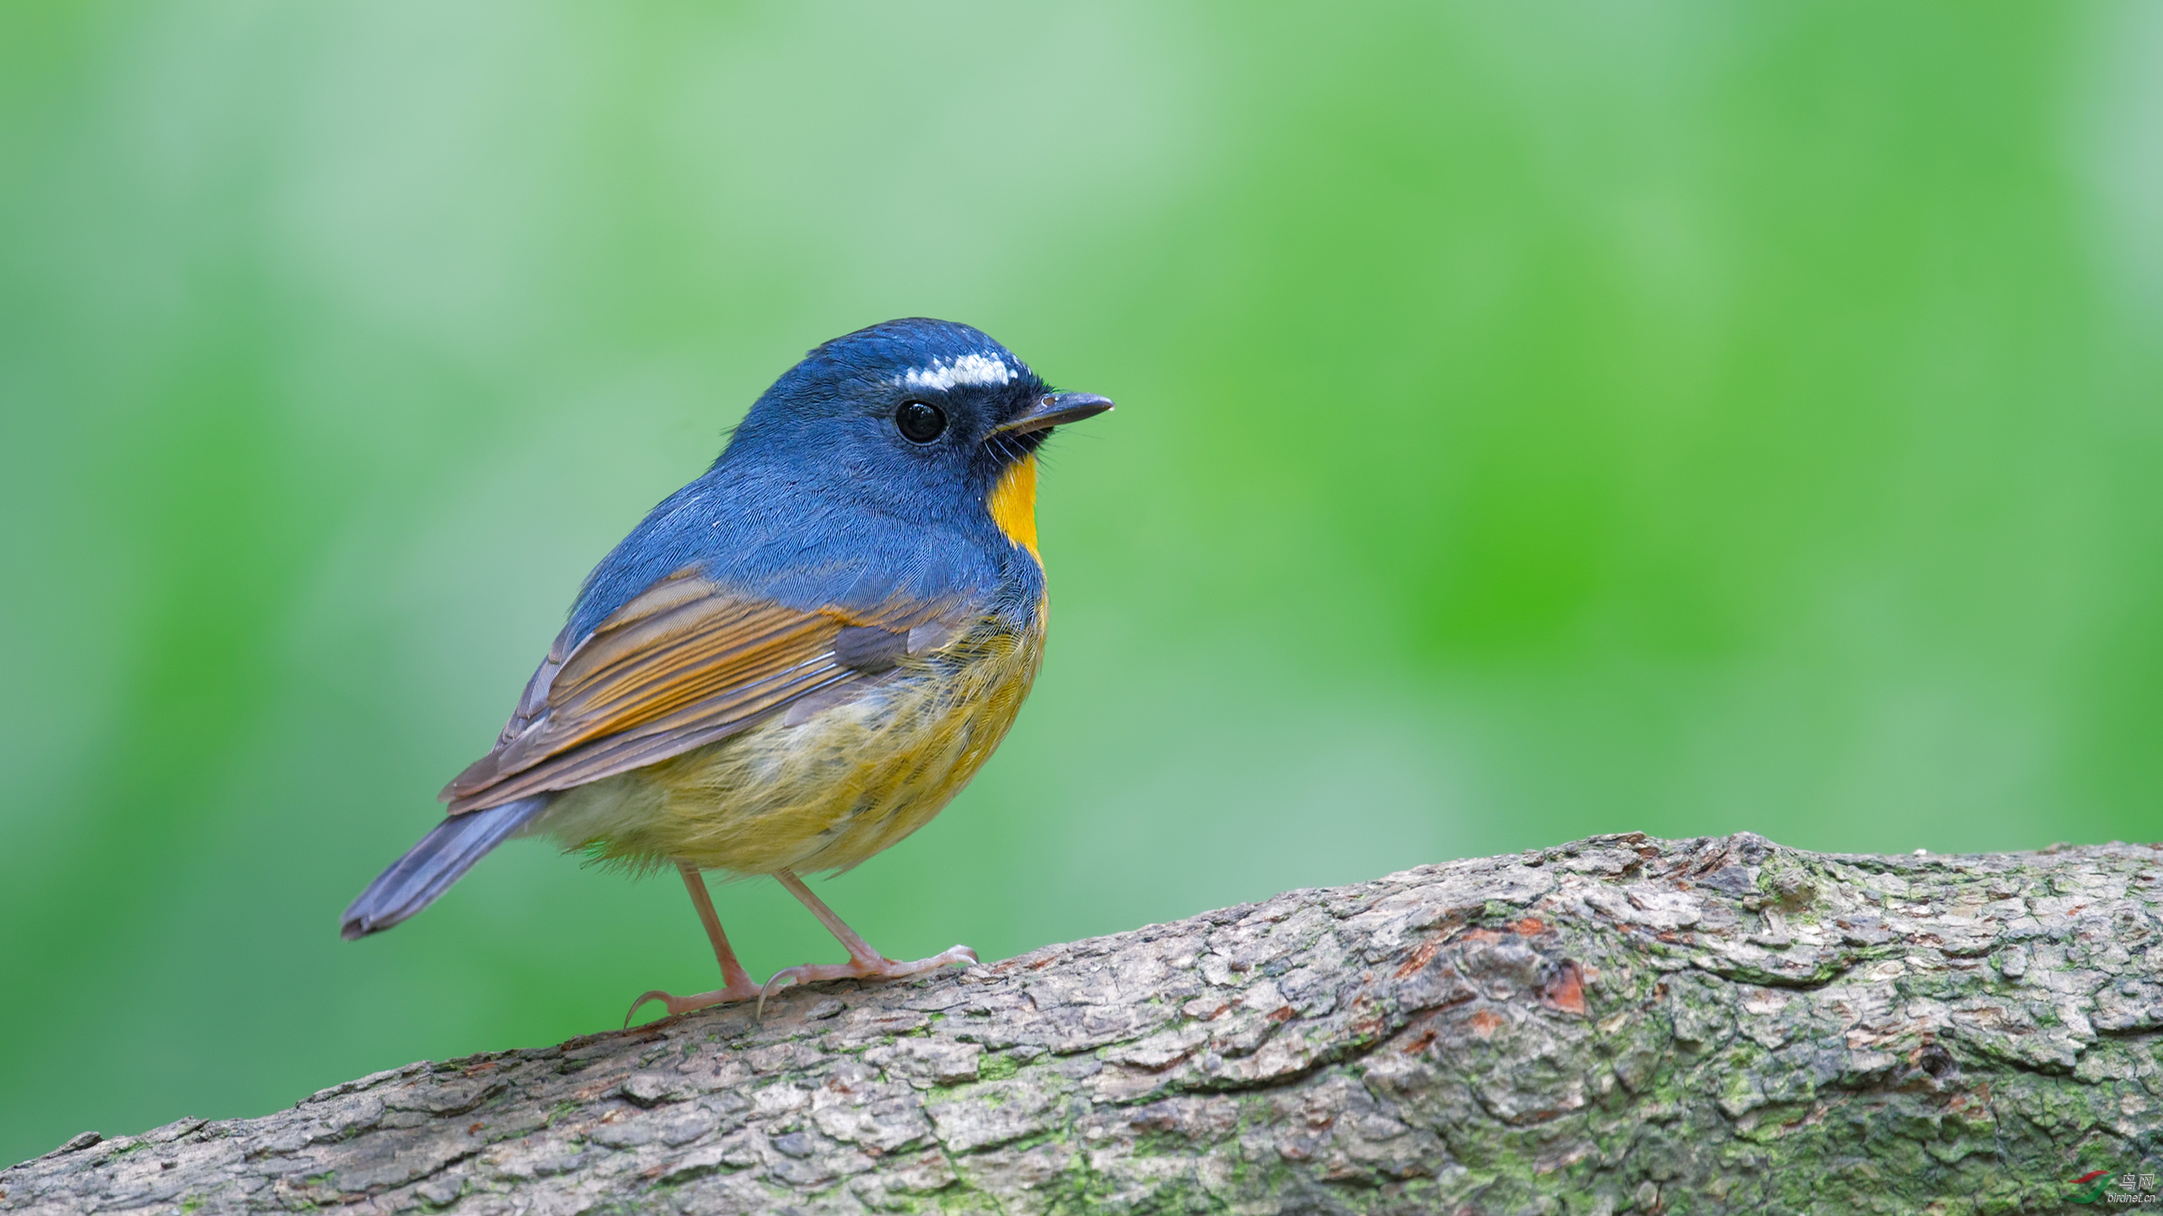
{"label": "blurred green background behind the bird and branch", "polygon": [[2159,835],[2154,4],[9,4],[0,1162],[712,987],[541,844],[335,924],[608,545],[906,314],[1120,411],[1010,742],[822,885],[889,954]]}

